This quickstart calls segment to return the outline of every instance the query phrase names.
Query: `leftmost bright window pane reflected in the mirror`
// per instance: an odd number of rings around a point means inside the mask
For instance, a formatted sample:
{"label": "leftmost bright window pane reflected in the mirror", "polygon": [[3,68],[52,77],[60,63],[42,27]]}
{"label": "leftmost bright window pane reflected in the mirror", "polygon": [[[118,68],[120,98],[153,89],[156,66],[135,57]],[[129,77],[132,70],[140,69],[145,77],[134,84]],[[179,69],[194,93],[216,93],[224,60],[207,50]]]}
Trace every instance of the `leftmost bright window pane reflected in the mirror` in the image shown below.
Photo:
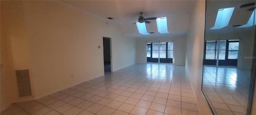
{"label": "leftmost bright window pane reflected in the mirror", "polygon": [[216,58],[216,40],[206,41],[205,59]]}

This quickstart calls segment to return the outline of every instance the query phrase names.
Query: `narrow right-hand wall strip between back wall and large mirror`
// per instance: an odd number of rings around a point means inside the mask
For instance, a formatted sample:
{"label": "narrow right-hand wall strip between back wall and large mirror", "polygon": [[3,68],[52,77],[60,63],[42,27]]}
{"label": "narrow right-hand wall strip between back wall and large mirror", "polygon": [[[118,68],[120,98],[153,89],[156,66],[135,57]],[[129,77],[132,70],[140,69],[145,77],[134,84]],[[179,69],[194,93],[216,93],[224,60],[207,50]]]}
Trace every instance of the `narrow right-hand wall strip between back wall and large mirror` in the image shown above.
{"label": "narrow right-hand wall strip between back wall and large mirror", "polygon": [[205,1],[196,1],[187,35],[186,71],[192,84],[200,115],[211,115],[210,108],[201,93],[204,53],[204,12]]}

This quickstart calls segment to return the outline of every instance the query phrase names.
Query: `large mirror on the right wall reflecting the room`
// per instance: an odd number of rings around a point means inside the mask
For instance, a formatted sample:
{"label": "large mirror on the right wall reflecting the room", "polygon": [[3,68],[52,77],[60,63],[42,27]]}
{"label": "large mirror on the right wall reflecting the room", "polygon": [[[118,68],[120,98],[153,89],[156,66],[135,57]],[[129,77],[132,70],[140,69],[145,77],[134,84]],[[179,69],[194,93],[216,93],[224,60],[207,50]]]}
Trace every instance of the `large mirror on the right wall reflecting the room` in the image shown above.
{"label": "large mirror on the right wall reflecting the room", "polygon": [[[255,10],[247,10],[256,6],[240,6],[252,2],[255,0],[206,0],[202,92],[214,115],[250,115],[255,65],[253,59],[244,57],[253,57],[256,51]],[[218,18],[219,13],[228,8],[233,9],[232,14],[220,26],[223,21],[217,19],[223,17]]]}

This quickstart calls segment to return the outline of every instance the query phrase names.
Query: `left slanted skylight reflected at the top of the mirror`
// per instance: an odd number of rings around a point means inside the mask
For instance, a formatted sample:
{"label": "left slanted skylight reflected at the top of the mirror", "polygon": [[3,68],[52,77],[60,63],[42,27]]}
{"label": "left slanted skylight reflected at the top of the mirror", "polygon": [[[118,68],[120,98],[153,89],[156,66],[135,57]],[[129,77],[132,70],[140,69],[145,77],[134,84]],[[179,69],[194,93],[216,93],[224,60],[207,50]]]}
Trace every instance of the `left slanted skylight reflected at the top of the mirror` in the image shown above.
{"label": "left slanted skylight reflected at the top of the mirror", "polygon": [[234,7],[219,9],[214,27],[212,27],[210,30],[220,29],[228,26],[228,23],[233,14],[233,11],[234,11]]}

